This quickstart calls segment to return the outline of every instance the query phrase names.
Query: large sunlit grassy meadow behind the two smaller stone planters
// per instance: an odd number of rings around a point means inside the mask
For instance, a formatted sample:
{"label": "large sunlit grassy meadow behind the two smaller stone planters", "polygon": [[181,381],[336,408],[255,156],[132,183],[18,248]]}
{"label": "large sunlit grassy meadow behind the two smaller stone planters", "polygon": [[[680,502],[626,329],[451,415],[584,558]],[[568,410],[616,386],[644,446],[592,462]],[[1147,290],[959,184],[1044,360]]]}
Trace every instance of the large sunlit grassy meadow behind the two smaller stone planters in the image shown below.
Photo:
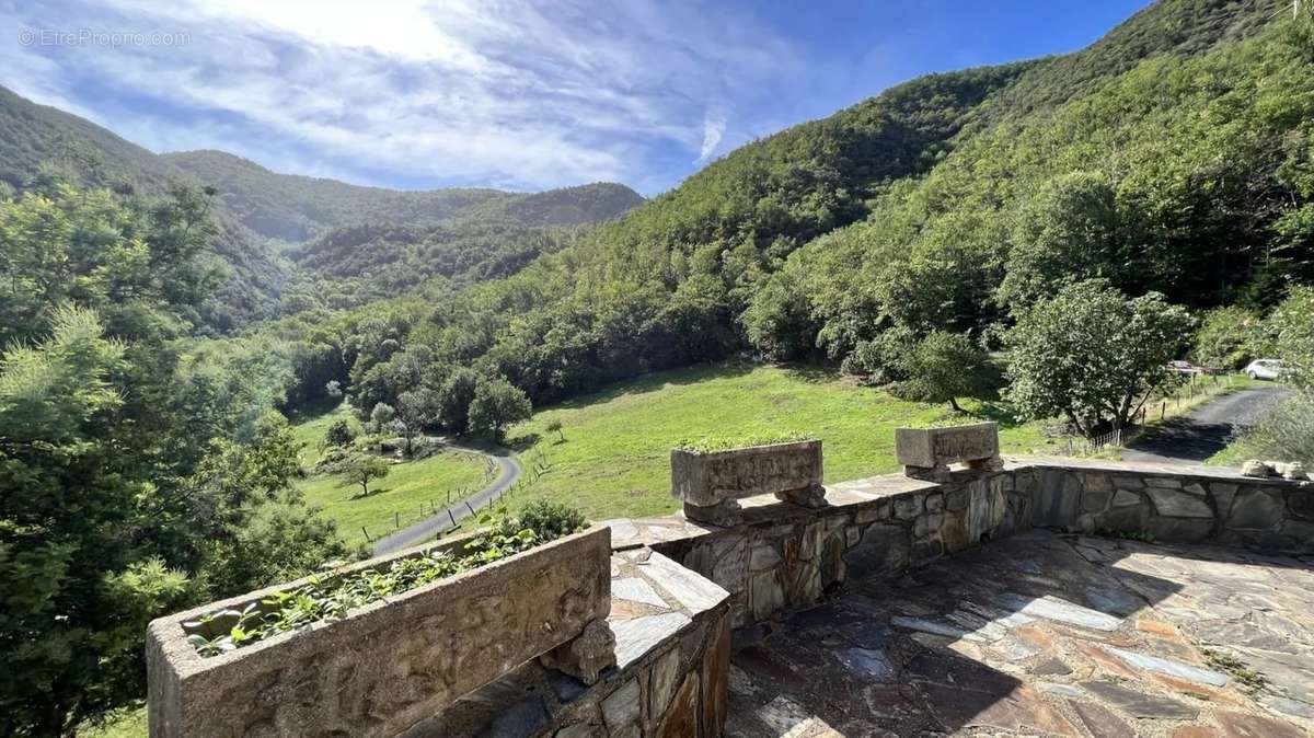
{"label": "large sunlit grassy meadow behind the two smaller stone planters", "polygon": [[[1043,448],[1039,424],[1012,420],[999,403],[967,401],[961,422],[999,420],[1007,452]],[[817,370],[702,366],[641,377],[544,408],[514,427],[526,460],[551,471],[524,499],[544,496],[593,519],[661,515],[670,498],[670,448],[683,439],[802,433],[825,441],[828,482],[895,471],[894,429],[954,419],[947,406],[904,402]],[[565,440],[548,432],[560,420]]]}

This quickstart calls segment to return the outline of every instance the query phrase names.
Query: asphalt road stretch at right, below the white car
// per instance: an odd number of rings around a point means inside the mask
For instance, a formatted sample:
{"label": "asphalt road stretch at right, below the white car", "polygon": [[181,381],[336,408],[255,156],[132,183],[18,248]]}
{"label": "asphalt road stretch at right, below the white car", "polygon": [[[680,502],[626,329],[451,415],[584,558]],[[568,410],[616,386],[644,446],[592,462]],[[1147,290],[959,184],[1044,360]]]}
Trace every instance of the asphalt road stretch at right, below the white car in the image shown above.
{"label": "asphalt road stretch at right, below the white car", "polygon": [[1147,431],[1122,450],[1126,461],[1200,464],[1221,452],[1239,431],[1272,407],[1285,387],[1252,387],[1202,404],[1190,414]]}

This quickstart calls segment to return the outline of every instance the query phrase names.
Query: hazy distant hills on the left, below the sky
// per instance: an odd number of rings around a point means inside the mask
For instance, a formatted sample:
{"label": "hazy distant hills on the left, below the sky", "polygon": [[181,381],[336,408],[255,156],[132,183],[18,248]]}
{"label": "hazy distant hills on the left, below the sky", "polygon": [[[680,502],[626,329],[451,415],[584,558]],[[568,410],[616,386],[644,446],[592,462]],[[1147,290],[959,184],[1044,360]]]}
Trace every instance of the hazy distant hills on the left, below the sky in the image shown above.
{"label": "hazy distant hills on the left, below the sky", "polygon": [[[22,189],[50,164],[76,173],[85,185],[125,193],[158,193],[173,180],[213,186],[221,230],[214,257],[226,267],[229,278],[205,314],[219,331],[279,314],[289,284],[321,273],[364,281],[365,294],[386,292],[382,282],[371,282],[372,269],[385,263],[405,264],[406,285],[432,274],[463,280],[502,276],[540,252],[543,236],[528,231],[607,221],[643,202],[639,193],[612,183],[541,193],[402,192],[281,175],[222,151],[156,155],[91,121],[0,87],[0,181]],[[499,230],[512,234],[510,242],[498,240],[494,234]],[[380,240],[378,232],[390,239]],[[367,234],[368,243],[351,240]],[[396,240],[406,238],[419,240]],[[438,243],[443,238],[451,240]],[[305,260],[305,269],[283,255],[280,242],[309,242],[294,252]],[[423,248],[410,248],[420,242]],[[327,244],[327,251],[314,243]],[[365,253],[353,253],[357,247]],[[463,248],[476,251],[461,253]],[[390,253],[394,250],[398,253]],[[440,251],[443,261],[402,259],[407,250],[420,255]],[[351,272],[353,265],[360,271]]]}

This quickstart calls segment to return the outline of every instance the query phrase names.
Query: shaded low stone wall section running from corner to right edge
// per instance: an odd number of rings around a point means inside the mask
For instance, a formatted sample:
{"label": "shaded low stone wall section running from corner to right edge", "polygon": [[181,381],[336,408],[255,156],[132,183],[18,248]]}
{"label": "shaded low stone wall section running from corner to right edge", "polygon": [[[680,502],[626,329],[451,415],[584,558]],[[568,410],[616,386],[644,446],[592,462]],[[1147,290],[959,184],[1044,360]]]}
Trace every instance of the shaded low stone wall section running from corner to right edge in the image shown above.
{"label": "shaded low stone wall section running from corner to right edge", "polygon": [[1314,485],[1284,479],[1041,465],[1018,471],[1033,523],[1083,533],[1146,536],[1314,553]]}

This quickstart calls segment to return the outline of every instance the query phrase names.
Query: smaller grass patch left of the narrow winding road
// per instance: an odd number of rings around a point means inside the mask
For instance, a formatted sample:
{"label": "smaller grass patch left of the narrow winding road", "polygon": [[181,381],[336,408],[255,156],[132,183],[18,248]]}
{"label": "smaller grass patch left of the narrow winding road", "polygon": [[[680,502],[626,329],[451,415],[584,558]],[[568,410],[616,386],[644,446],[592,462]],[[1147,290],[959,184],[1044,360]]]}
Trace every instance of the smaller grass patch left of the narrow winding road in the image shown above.
{"label": "smaller grass patch left of the narrow winding road", "polygon": [[[293,425],[297,440],[302,444],[301,464],[310,467],[319,460],[319,441],[328,425],[347,418],[347,406],[328,408],[321,415],[298,418]],[[315,475],[297,483],[306,495],[306,502],[318,504],[338,523],[338,531],[350,544],[364,544],[364,531],[377,538],[390,533],[399,524],[402,528],[431,515],[435,506],[442,510],[447,504],[447,492],[452,500],[460,499],[457,490],[474,491],[484,487],[484,457],[466,452],[444,452],[420,461],[396,464],[388,477],[371,483],[369,496],[357,498],[360,487],[348,485],[336,475]]]}

